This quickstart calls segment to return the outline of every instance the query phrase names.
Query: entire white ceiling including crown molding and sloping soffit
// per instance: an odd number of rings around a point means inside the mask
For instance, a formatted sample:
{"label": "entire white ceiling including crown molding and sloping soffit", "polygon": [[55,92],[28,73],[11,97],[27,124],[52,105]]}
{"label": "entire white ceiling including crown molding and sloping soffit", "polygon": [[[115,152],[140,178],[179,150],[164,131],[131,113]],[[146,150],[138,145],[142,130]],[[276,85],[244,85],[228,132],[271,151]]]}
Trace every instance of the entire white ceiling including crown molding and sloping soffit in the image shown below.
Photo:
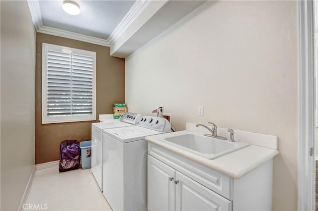
{"label": "entire white ceiling including crown molding and sloping soffit", "polygon": [[27,0],[35,30],[110,47],[125,58],[187,16],[206,0],[73,0],[70,15],[63,0]]}

